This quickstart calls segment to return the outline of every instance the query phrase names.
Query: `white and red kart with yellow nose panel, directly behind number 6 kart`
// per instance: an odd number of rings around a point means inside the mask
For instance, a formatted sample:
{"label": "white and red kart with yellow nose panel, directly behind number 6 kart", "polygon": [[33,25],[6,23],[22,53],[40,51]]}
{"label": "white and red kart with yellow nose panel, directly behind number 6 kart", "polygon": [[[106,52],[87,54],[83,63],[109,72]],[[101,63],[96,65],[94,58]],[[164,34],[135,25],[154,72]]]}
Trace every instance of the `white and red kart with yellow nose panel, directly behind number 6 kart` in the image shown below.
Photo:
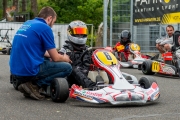
{"label": "white and red kart with yellow nose panel, directly behind number 6 kart", "polygon": [[[140,46],[138,44],[130,43],[126,46],[123,45],[117,46],[117,49],[124,49],[124,48],[125,48],[125,52],[115,52],[115,56],[120,61],[120,65],[122,67],[138,68],[138,65],[142,64],[144,60],[152,58],[152,56],[150,55],[141,54]],[[124,57],[123,54],[125,53],[129,54],[128,60],[123,60]]]}

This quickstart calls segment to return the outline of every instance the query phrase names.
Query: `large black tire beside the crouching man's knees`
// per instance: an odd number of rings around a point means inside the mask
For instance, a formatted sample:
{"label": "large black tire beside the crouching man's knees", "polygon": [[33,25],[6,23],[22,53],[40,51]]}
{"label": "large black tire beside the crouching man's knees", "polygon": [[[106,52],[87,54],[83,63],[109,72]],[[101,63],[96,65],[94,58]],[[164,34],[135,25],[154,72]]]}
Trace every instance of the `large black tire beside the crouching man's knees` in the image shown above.
{"label": "large black tire beside the crouching man's knees", "polygon": [[50,85],[50,95],[54,102],[65,102],[69,97],[69,85],[65,78],[55,78]]}

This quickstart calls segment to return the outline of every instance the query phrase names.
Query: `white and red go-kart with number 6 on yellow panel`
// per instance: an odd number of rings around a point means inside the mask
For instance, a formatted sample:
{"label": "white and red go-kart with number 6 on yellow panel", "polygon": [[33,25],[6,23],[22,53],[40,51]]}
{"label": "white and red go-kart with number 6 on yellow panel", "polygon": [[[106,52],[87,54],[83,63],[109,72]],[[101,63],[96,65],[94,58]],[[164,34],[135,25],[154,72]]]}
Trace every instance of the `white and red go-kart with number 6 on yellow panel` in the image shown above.
{"label": "white and red go-kart with number 6 on yellow panel", "polygon": [[[83,60],[89,51],[93,51],[92,64],[86,64]],[[156,80],[151,77],[141,77],[138,81],[135,76],[121,72],[120,63],[110,49],[88,48],[82,54],[81,61],[84,65],[90,66],[91,80],[97,82],[101,76],[104,84],[97,84],[93,89],[73,84],[69,95],[71,98],[89,103],[142,105],[154,102],[160,97]],[[112,84],[109,84],[110,81]]]}

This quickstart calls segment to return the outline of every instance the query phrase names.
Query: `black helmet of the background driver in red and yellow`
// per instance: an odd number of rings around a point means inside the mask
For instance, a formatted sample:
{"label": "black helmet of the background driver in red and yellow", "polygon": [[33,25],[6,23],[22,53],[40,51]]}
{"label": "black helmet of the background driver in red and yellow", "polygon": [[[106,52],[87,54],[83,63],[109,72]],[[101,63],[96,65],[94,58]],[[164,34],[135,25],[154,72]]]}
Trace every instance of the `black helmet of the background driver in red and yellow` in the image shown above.
{"label": "black helmet of the background driver in red and yellow", "polygon": [[119,36],[121,42],[127,42],[131,39],[131,33],[128,30],[123,30]]}

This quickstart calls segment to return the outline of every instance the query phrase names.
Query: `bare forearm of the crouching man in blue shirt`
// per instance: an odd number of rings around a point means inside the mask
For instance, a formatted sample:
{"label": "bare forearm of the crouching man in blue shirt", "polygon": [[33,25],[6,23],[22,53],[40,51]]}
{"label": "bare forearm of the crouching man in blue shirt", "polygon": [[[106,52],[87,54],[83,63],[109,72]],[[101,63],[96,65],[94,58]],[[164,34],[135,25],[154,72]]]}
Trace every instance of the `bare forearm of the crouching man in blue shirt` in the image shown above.
{"label": "bare forearm of the crouching man in blue shirt", "polygon": [[[56,48],[47,50],[48,54],[50,56],[50,58],[54,61],[54,62],[69,62],[71,63],[72,61],[69,59],[69,56],[64,54],[61,55],[57,52]],[[46,53],[45,53],[46,54]],[[46,54],[47,55],[47,54]]]}

